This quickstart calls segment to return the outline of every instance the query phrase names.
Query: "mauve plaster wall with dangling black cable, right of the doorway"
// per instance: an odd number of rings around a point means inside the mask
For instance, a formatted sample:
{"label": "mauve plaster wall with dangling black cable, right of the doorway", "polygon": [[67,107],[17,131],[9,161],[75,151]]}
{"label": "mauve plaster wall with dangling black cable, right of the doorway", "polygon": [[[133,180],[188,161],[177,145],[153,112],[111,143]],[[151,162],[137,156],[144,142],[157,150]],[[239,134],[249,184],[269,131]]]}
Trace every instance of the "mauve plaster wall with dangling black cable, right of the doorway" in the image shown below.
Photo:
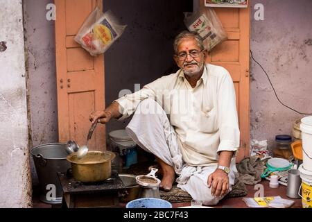
{"label": "mauve plaster wall with dangling black cable, right of the doorway", "polygon": [[[264,20],[254,19],[254,5],[264,6]],[[312,113],[312,1],[252,0],[251,50],[270,76],[279,99]],[[266,74],[251,60],[250,124],[252,139],[292,134],[293,121],[305,117],[281,105]]]}

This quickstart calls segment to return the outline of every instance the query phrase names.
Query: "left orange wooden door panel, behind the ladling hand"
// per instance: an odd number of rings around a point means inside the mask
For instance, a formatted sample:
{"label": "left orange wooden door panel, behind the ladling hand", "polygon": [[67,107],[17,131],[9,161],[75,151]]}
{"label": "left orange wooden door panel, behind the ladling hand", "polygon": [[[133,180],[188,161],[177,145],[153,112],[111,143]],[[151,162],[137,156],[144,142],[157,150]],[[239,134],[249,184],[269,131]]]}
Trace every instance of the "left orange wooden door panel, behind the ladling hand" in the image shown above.
{"label": "left orange wooden door panel, behind the ladling hand", "polygon": [[[73,37],[101,0],[55,0],[55,51],[60,142],[86,143],[91,126],[89,114],[103,110],[104,59],[90,56]],[[105,150],[105,126],[99,124],[88,144],[90,150]]]}

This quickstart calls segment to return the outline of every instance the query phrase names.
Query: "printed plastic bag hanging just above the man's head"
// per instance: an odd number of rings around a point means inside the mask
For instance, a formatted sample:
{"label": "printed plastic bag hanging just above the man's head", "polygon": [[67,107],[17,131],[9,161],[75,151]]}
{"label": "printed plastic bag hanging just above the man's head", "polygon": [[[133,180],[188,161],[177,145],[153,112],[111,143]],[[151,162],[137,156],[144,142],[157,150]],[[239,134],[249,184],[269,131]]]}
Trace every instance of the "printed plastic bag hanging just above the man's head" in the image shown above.
{"label": "printed plastic bag hanging just above the man's head", "polygon": [[220,42],[227,40],[227,34],[216,12],[211,8],[202,8],[193,14],[187,12],[184,17],[184,24],[189,31],[195,31],[202,37],[205,49],[208,51],[211,51]]}

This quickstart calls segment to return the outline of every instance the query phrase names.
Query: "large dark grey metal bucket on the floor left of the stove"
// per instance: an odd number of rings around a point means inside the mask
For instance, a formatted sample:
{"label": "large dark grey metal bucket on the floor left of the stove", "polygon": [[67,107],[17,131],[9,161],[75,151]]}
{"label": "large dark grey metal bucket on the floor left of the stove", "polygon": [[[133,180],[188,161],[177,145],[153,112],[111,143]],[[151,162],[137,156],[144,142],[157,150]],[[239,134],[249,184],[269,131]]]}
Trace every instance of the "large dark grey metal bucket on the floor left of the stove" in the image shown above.
{"label": "large dark grey metal bucket on the floor left of the stove", "polygon": [[44,203],[62,203],[63,191],[56,173],[66,173],[70,168],[66,148],[67,144],[53,143],[35,146],[31,150],[41,186],[40,200]]}

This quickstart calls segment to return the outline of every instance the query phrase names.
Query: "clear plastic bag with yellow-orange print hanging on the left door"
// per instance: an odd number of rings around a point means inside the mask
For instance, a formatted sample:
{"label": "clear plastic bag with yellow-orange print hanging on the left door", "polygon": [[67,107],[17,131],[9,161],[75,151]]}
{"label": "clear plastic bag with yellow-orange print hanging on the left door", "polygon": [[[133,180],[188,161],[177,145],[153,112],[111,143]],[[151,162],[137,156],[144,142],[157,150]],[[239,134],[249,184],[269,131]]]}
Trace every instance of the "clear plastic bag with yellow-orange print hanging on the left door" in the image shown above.
{"label": "clear plastic bag with yellow-orange print hanging on the left door", "polygon": [[96,7],[74,40],[92,56],[96,56],[104,53],[122,35],[125,27],[119,24],[110,10],[103,13]]}

